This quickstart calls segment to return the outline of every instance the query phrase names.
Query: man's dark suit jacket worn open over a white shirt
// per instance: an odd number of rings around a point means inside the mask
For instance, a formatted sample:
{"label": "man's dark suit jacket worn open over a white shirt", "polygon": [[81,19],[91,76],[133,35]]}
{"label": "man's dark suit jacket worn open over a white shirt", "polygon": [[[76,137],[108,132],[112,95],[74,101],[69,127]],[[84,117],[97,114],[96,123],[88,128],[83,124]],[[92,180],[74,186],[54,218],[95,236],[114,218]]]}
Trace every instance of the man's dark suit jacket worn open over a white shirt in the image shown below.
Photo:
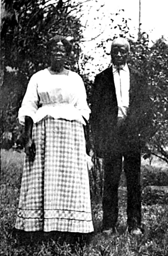
{"label": "man's dark suit jacket worn open over a white shirt", "polygon": [[[123,133],[125,138],[134,141],[144,141],[149,129],[150,105],[148,89],[144,76],[129,67],[130,91],[129,108],[124,120]],[[113,147],[116,136],[118,104],[112,66],[95,77],[91,95],[90,123],[97,156],[104,154]]]}

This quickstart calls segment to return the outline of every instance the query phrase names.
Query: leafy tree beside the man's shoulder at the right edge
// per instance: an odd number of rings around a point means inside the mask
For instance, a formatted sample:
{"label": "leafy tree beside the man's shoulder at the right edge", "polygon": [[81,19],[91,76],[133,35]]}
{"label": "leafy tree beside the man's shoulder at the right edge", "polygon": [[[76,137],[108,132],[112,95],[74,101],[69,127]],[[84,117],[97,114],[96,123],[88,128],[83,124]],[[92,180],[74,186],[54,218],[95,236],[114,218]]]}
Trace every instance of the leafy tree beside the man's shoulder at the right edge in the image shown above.
{"label": "leafy tree beside the man's shoulder at the right edge", "polygon": [[164,38],[149,47],[148,35],[142,33],[131,42],[131,64],[148,77],[152,126],[148,140],[148,154],[168,163],[168,45]]}

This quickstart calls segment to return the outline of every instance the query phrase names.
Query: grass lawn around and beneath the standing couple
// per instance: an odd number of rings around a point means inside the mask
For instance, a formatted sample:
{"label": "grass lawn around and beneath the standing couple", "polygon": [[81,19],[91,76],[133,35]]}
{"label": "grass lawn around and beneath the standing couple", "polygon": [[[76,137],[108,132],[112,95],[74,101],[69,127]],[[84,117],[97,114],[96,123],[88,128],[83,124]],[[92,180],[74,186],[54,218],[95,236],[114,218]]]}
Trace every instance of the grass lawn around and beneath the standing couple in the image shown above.
{"label": "grass lawn around and beneath the standing couple", "polygon": [[116,234],[100,232],[101,201],[92,199],[95,233],[89,244],[17,237],[13,233],[20,191],[23,153],[2,150],[0,181],[0,256],[168,256],[168,194],[150,186],[168,186],[168,167],[158,159],[142,161],[142,219],[146,232],[130,236],[126,230],[126,183],[122,175],[119,189],[119,218]]}

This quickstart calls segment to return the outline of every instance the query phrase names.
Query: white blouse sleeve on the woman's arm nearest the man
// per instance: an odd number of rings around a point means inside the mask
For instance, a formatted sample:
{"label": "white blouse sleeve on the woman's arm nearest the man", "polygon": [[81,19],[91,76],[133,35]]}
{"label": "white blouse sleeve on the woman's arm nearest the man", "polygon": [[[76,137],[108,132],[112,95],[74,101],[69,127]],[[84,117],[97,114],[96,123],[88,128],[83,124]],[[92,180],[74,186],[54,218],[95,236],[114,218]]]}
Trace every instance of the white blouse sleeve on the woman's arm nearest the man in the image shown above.
{"label": "white blouse sleeve on the woman's arm nearest the man", "polygon": [[78,99],[76,101],[75,107],[80,110],[81,116],[87,121],[89,120],[90,108],[88,107],[86,101],[86,89],[82,78],[78,75]]}

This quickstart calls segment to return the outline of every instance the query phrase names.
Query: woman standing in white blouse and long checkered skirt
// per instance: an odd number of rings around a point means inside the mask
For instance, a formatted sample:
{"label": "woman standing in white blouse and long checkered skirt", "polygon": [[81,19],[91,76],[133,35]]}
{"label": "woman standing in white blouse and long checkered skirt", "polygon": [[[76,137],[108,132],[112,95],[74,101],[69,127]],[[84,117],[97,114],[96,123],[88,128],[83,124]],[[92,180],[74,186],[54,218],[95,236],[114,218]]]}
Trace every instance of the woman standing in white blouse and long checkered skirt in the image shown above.
{"label": "woman standing in white blouse and long checkered skirt", "polygon": [[56,36],[49,49],[51,65],[31,77],[18,113],[26,156],[15,228],[90,233],[86,91],[82,78],[64,68],[70,43]]}

